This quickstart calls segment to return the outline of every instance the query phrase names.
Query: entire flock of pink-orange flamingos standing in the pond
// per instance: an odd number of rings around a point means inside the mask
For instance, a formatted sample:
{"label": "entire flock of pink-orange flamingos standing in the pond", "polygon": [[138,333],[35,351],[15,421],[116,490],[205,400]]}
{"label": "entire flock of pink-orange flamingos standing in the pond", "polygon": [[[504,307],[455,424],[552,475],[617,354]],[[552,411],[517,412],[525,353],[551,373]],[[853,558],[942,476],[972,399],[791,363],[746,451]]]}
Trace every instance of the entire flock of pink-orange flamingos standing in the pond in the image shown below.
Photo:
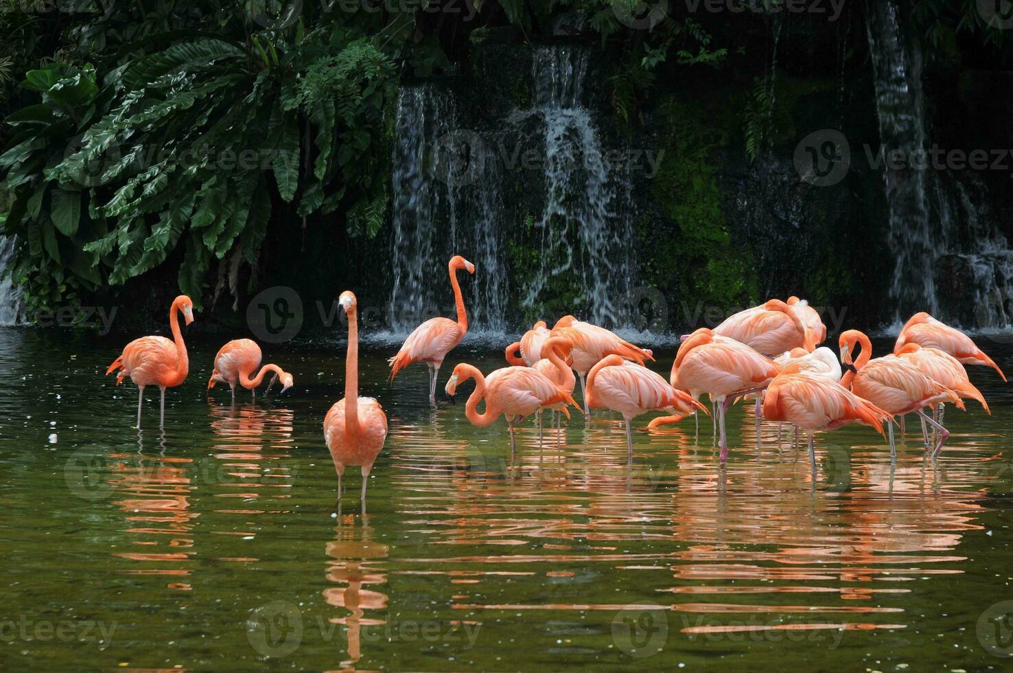
{"label": "entire flock of pink-orange flamingos standing in the pond", "polygon": [[[451,258],[449,268],[457,320],[444,317],[426,320],[390,359],[391,381],[412,363],[428,367],[430,403],[434,406],[440,367],[468,331],[457,272],[463,269],[475,273],[474,265],[460,255]],[[327,412],[323,431],[337,471],[338,499],[344,469],[359,466],[365,501],[370,471],[387,437],[387,416],[379,401],[359,396],[356,295],[342,292],[339,303],[348,318],[344,398]],[[186,378],[189,361],[179,330],[180,312],[186,324],[193,321],[193,302],[189,297],[176,297],[169,309],[172,341],[164,336],[135,340],[106,371],[106,374],[116,371],[118,385],[127,376],[137,384],[138,428],[145,386],[157,385],[161,389],[164,424],[165,389],[181,384]],[[988,365],[1006,380],[999,366],[966,334],[928,313],[917,313],[908,320],[893,353],[880,358],[872,359],[869,338],[856,329],[841,334],[840,361],[830,349],[817,348],[826,338],[827,327],[819,312],[805,301],[797,297],[787,302],[771,299],[735,313],[714,329],[702,327],[684,335],[672,374],[666,381],[644,366],[645,361],[654,359],[649,350],[567,315],[552,329],[539,321],[519,343],[508,347],[509,367],[486,376],[472,365],[457,365],[445,389],[453,397],[462,382],[475,379],[465,416],[480,427],[505,416],[512,451],[516,450],[514,425],[537,415],[541,432],[542,414],[546,409],[555,413],[557,429],[562,415],[569,418],[569,406],[580,409],[586,418],[591,408],[622,414],[630,460],[633,455],[630,422],[634,417],[651,410],[666,413],[668,416],[650,422],[649,427],[656,427],[678,423],[691,414],[698,419],[697,414],[703,412],[712,416],[715,434],[719,429],[722,465],[728,454],[725,413],[736,399],[752,397],[756,400],[758,432],[762,419],[794,425],[796,436],[798,429],[808,436],[809,460],[814,465],[813,434],[853,422],[871,426],[880,434],[885,425],[890,456],[895,457],[894,417],[900,416],[903,421],[905,415],[912,413],[920,418],[926,451],[935,458],[949,436],[942,426],[945,403],[962,409],[962,398],[970,398],[989,410],[985,397],[971,385],[961,363]],[[279,378],[283,391],[292,386],[292,375],[278,365],[264,365],[252,376],[260,360],[260,349],[252,341],[229,342],[215,356],[208,389],[216,383],[227,383],[235,399],[239,384],[251,390],[255,398],[256,388],[268,372],[272,377],[267,390]],[[577,377],[582,408],[572,396]],[[712,410],[699,401],[704,393],[711,399]],[[482,399],[485,410],[479,414]],[[930,414],[923,410],[926,407]]]}

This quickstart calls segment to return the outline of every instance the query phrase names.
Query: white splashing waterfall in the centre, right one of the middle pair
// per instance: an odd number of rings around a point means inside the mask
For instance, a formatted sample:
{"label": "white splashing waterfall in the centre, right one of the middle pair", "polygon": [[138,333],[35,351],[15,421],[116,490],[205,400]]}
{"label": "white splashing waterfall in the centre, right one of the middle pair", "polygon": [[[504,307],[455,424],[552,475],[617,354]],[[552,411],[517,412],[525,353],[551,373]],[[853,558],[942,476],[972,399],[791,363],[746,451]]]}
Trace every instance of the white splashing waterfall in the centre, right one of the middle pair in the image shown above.
{"label": "white splashing waterfall in the centre, right one of the middle pair", "polygon": [[604,160],[595,122],[581,104],[588,56],[566,47],[535,52],[534,114],[545,126],[546,200],[535,222],[539,268],[528,279],[522,305],[535,305],[550,278],[574,270],[588,318],[617,326],[628,319],[633,280],[632,227],[621,216],[630,190],[625,171]]}

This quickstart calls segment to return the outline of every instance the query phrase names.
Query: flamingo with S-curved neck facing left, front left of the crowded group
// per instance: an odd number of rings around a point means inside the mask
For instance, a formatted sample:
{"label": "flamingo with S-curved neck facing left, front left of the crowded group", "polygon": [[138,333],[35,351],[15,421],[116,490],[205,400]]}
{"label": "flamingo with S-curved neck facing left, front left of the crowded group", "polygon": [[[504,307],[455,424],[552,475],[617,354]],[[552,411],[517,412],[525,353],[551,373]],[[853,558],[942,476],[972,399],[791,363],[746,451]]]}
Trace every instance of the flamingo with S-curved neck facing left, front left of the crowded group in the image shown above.
{"label": "flamingo with S-curved neck facing left, front left of the crowded group", "polygon": [[[461,363],[445,388],[451,397],[457,386],[468,379],[475,379],[475,390],[468,397],[464,415],[471,425],[486,428],[495,423],[501,414],[506,416],[510,429],[510,450],[517,450],[514,424],[536,412],[551,408],[562,412],[569,418],[567,404],[580,408],[573,396],[556,386],[551,379],[532,367],[502,367],[483,376],[477,367]],[[485,412],[478,413],[478,402],[485,398]]]}

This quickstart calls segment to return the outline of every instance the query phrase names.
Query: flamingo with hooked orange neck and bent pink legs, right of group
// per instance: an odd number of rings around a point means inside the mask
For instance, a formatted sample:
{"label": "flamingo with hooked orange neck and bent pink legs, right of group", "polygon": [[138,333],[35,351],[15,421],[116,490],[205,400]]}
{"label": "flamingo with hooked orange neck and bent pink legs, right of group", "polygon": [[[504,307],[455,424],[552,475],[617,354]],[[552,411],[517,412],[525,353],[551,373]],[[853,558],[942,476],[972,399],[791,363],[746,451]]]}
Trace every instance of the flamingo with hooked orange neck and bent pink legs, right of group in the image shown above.
{"label": "flamingo with hooked orange neck and bent pink legs, right of group", "polygon": [[[946,386],[926,376],[918,367],[904,358],[888,355],[882,358],[872,358],[872,344],[869,338],[857,329],[849,329],[841,334],[841,362],[852,365],[841,379],[841,384],[849,388],[859,397],[869,400],[890,416],[910,414],[912,412],[922,417],[924,423],[930,424],[939,431],[939,443],[932,451],[935,458],[942,450],[949,432],[935,420],[922,412],[923,406],[931,406],[936,402],[950,400],[957,408],[964,408],[963,401]],[[861,347],[858,358],[852,363],[855,346]],[[893,426],[887,426],[889,431],[889,454],[897,457],[893,444]]]}

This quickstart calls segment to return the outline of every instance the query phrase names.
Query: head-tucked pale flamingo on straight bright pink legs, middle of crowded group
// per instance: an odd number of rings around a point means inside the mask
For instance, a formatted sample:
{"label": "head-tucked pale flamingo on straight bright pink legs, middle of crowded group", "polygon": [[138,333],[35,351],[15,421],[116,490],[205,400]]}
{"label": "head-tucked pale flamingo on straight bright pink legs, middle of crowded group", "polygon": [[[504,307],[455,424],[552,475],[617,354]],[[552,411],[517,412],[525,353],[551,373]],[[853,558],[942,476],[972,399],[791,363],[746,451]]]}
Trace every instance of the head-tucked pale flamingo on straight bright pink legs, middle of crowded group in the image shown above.
{"label": "head-tucked pale flamingo on straight bright pink legs, middle of crowded group", "polygon": [[[686,390],[694,399],[708,393],[714,402],[714,416],[720,427],[721,462],[728,459],[728,440],[724,417],[735,397],[762,391],[780,373],[776,364],[742,342],[721,336],[701,327],[679,345],[672,364],[672,385]],[[654,419],[653,426],[672,423]],[[759,431],[760,417],[757,416]]]}

